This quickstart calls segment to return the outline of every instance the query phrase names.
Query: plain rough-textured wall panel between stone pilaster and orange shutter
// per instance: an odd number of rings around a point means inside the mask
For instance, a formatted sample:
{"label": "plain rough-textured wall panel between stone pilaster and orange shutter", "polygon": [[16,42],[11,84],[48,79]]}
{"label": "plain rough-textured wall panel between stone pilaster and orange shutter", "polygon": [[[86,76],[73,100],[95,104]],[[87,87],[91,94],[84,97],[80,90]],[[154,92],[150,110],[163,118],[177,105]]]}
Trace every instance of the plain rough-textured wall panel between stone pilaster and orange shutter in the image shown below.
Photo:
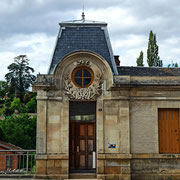
{"label": "plain rough-textured wall panel between stone pilaster and orange shutter", "polygon": [[152,101],[130,102],[131,153],[158,153],[158,121]]}

